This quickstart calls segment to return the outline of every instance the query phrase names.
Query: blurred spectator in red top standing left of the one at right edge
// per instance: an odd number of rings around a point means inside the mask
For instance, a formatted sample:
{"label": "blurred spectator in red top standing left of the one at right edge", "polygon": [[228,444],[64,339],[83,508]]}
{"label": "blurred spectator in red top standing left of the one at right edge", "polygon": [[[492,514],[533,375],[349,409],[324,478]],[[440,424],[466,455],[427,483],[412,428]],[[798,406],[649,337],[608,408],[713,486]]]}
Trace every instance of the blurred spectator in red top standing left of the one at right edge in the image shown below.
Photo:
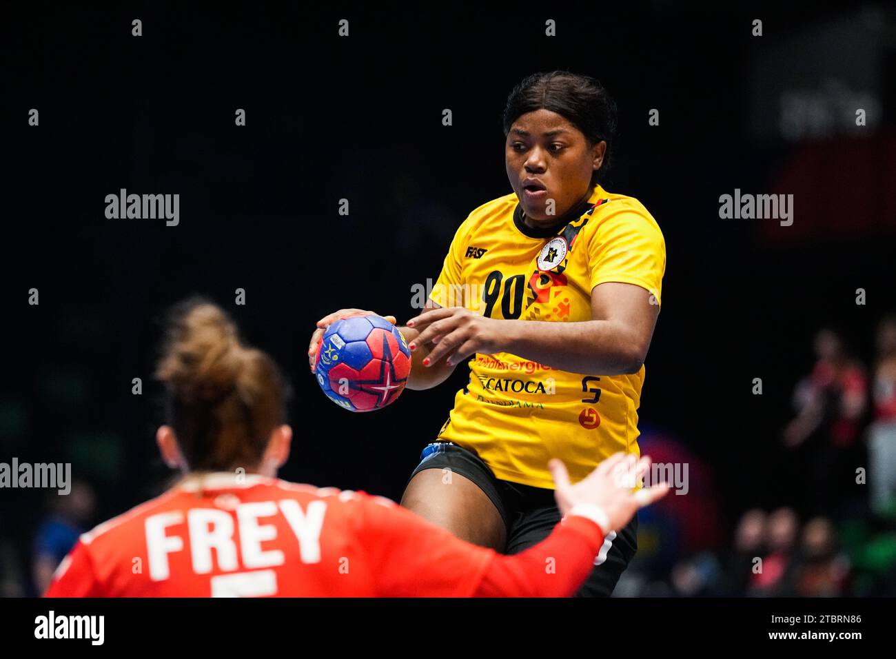
{"label": "blurred spectator in red top standing left of the one at right edge", "polygon": [[785,444],[800,447],[800,471],[807,479],[798,487],[809,495],[808,512],[831,514],[843,503],[862,464],[856,455],[867,405],[865,370],[849,357],[840,335],[822,329],[815,335],[815,366],[797,384],[797,416],[784,429]]}

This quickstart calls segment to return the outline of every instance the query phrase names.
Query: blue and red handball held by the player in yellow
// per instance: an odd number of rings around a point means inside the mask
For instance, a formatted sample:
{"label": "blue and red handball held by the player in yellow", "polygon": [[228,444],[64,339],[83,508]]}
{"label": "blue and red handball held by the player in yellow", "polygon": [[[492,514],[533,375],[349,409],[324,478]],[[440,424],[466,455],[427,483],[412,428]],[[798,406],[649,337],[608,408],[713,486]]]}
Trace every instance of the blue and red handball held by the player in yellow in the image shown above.
{"label": "blue and red handball held by the player in yellow", "polygon": [[410,373],[410,350],[383,316],[347,316],[323,333],[314,373],[333,403],[351,412],[371,412],[401,395]]}

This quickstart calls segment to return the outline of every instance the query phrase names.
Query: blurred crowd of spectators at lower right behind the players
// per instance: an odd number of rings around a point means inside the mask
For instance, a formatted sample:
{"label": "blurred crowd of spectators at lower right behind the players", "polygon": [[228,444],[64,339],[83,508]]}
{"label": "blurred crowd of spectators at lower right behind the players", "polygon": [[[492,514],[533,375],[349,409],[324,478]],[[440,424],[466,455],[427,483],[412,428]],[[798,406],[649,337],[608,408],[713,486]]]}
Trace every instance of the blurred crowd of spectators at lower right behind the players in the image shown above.
{"label": "blurred crowd of spectators at lower right behind the players", "polygon": [[[726,533],[709,472],[643,511],[641,547],[621,596],[831,597],[896,595],[896,316],[876,328],[862,363],[842,336],[814,336],[814,368],[794,389],[781,431],[786,505],[753,507]],[[675,440],[642,436],[657,461],[690,461]],[[773,454],[770,459],[777,459]],[[700,526],[700,531],[689,529]]]}

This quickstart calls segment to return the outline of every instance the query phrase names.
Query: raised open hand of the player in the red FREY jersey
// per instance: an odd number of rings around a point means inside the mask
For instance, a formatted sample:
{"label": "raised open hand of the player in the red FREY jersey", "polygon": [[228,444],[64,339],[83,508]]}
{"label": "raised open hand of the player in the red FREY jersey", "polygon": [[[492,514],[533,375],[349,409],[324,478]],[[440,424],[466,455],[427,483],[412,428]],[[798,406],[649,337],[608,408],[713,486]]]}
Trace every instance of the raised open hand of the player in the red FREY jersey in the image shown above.
{"label": "raised open hand of the player in the red FREY jersey", "polygon": [[593,472],[575,485],[569,481],[566,466],[559,460],[547,464],[554,477],[554,496],[560,514],[566,515],[573,506],[597,506],[609,518],[609,529],[618,531],[628,524],[638,508],[662,499],[669,490],[668,483],[633,491],[650,468],[650,457],[638,460],[633,454],[616,453],[600,463]]}

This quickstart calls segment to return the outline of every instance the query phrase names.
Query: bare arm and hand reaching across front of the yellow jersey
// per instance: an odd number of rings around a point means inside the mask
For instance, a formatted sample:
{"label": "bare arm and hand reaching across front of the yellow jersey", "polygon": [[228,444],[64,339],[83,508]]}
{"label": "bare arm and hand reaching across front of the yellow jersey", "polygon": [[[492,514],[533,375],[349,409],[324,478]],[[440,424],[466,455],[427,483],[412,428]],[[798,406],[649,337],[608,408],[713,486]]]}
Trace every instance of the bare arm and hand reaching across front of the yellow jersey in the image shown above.
{"label": "bare arm and hand reaching across front of the yellow jersey", "polygon": [[589,321],[502,320],[465,308],[440,308],[408,321],[419,332],[409,348],[415,362],[417,352],[427,350],[420,362],[425,367],[453,366],[477,352],[510,352],[573,373],[623,375],[641,369],[658,315],[659,305],[648,290],[606,282],[591,291]]}

